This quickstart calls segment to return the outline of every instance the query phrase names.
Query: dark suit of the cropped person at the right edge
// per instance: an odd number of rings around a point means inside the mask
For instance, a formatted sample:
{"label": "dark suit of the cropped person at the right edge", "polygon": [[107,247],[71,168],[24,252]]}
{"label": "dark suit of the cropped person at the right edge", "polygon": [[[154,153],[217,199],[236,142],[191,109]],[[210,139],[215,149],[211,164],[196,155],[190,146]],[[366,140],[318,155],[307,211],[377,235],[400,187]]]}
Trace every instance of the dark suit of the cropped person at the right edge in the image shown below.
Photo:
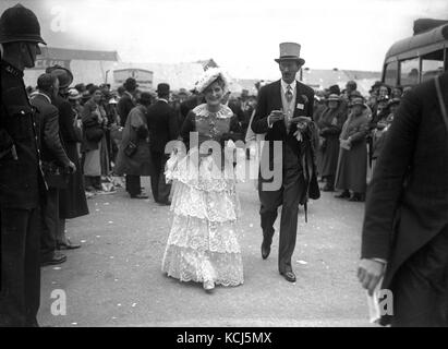
{"label": "dark suit of the cropped person at the right edge", "polygon": [[[448,110],[448,73],[440,75]],[[367,190],[362,258],[388,261],[382,324],[448,326],[448,125],[434,80],[405,94]]]}

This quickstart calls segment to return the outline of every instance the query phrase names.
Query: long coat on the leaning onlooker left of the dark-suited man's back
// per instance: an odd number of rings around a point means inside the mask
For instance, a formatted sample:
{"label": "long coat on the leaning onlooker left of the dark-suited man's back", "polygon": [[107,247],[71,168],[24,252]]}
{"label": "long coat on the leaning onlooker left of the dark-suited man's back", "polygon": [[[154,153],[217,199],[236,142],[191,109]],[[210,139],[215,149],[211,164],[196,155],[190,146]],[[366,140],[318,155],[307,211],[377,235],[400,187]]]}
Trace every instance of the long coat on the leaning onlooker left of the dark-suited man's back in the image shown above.
{"label": "long coat on the leaning onlooker left of the dark-suited man's back", "polygon": [[[147,109],[137,105],[128,116],[123,130],[123,137],[118,149],[117,165],[113,171],[118,176],[150,176],[153,161],[148,143]],[[125,149],[130,142],[137,146],[135,154],[126,155]]]}

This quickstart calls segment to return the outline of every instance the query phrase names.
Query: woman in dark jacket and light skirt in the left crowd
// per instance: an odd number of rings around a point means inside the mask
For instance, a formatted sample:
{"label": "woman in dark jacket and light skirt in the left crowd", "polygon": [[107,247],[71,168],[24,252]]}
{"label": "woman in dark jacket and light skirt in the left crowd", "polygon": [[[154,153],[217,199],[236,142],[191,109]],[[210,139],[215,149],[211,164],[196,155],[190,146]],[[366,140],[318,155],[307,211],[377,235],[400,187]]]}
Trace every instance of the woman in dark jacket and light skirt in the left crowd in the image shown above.
{"label": "woman in dark jacket and light skirt in the left crowd", "polygon": [[109,176],[109,157],[105,129],[106,111],[101,107],[101,91],[90,87],[92,98],[84,105],[81,115],[83,121],[84,176],[87,191],[101,191],[101,176]]}

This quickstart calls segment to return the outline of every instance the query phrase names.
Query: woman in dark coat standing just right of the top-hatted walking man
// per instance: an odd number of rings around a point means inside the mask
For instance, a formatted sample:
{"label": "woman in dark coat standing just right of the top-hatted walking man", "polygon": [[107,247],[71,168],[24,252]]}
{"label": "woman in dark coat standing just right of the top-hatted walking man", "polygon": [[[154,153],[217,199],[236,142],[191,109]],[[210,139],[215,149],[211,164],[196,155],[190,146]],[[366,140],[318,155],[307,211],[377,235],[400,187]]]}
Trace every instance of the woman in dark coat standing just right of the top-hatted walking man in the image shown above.
{"label": "woman in dark coat standing just right of the top-hatted walking man", "polygon": [[346,113],[341,111],[339,105],[339,96],[336,94],[329,95],[327,99],[327,108],[317,121],[319,135],[324,140],[319,148],[319,174],[323,179],[326,179],[327,182],[323,188],[324,192],[335,191],[335,176],[339,157],[339,135],[347,119]]}

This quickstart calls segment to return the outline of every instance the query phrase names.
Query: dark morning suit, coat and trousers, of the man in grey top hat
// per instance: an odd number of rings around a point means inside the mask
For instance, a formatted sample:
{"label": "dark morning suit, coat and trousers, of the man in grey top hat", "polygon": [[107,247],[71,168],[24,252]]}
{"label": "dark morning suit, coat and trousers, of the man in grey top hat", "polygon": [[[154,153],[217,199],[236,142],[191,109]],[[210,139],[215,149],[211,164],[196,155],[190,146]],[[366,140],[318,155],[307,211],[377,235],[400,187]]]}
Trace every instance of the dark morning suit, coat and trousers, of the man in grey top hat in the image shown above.
{"label": "dark morning suit, coat and trousers, of the man in grey top hat", "polygon": [[[314,92],[312,88],[296,83],[296,94],[293,117],[313,117]],[[291,124],[289,133],[284,122],[278,121],[271,128],[268,127],[268,116],[271,110],[282,109],[281,82],[277,81],[262,87],[258,95],[257,108],[252,122],[255,133],[266,133],[266,141],[282,142],[282,183],[279,190],[265,191],[263,184],[273,179],[259,176],[258,194],[261,200],[261,219],[264,240],[270,243],[274,236],[274,222],[277,218],[277,209],[282,205],[279,242],[279,272],[292,269],[291,257],[295,246],[299,205],[305,204],[308,197],[317,198],[319,189],[317,185],[314,143],[311,130],[304,134],[304,141],[299,142],[293,133],[296,130]],[[274,156],[274,142],[266,142],[263,158],[269,146],[269,167],[278,164]]]}

